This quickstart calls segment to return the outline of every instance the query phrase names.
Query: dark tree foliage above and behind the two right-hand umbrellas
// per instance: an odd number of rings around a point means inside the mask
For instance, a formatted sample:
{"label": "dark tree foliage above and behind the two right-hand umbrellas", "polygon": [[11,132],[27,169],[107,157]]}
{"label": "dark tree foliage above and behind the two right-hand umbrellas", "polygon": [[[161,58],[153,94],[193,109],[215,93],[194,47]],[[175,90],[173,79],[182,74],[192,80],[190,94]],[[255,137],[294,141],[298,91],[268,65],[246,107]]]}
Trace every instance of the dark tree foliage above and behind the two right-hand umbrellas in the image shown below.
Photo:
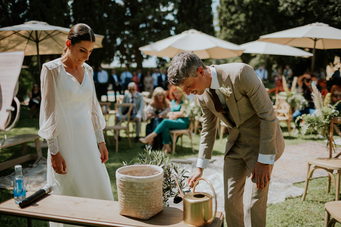
{"label": "dark tree foliage above and behind the two right-hand umbrellas", "polygon": [[[257,40],[259,36],[283,31],[314,22],[341,28],[341,6],[338,0],[220,0],[218,6],[219,36],[235,44]],[[311,52],[311,50],[310,50]],[[325,67],[339,50],[316,50],[316,69]],[[242,54],[249,63],[254,55]],[[291,64],[295,75],[310,67],[311,59],[270,55],[268,70],[273,63]]]}

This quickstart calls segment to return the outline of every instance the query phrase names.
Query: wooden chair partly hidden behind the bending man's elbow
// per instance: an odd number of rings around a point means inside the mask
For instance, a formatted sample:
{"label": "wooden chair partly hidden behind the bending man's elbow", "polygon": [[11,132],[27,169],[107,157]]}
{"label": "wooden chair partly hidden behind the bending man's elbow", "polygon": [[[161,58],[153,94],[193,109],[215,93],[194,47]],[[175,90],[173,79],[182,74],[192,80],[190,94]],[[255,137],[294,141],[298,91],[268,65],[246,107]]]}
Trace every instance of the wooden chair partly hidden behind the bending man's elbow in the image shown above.
{"label": "wooden chair partly hidden behind the bending man's elbow", "polygon": [[279,121],[286,121],[288,133],[290,137],[291,109],[289,103],[286,102],[286,97],[276,95],[275,105],[273,106],[275,115]]}

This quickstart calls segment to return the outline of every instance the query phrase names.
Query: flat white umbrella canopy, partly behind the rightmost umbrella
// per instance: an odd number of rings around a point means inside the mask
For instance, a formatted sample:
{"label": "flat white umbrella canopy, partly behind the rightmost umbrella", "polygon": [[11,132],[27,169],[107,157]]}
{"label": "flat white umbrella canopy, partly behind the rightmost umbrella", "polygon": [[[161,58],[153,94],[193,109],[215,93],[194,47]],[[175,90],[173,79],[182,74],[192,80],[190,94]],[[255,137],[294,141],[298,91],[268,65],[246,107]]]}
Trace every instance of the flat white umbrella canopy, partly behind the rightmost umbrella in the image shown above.
{"label": "flat white umbrella canopy, partly behind the rightmost umbrella", "polygon": [[276,43],[268,43],[261,41],[254,41],[239,45],[245,49],[244,53],[255,54],[275,54],[275,55],[289,55],[289,56],[312,56],[312,53],[307,51]]}

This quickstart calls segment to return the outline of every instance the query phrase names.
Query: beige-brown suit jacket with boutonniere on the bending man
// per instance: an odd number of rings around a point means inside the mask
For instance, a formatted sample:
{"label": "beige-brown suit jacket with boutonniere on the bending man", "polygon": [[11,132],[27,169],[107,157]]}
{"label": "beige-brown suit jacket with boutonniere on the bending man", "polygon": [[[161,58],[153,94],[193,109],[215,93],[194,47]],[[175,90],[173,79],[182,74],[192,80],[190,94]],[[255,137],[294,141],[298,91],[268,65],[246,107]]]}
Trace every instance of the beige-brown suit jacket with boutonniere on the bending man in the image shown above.
{"label": "beige-brown suit jacket with boutonniere on the bending man", "polygon": [[244,63],[212,67],[217,71],[219,85],[232,88],[231,96],[223,95],[235,123],[225,113],[216,111],[212,96],[206,90],[203,95],[198,95],[204,117],[198,158],[211,159],[221,119],[228,126],[225,156],[241,133],[250,138],[248,144],[256,153],[276,155],[276,161],[284,151],[284,138],[262,81],[253,68]]}

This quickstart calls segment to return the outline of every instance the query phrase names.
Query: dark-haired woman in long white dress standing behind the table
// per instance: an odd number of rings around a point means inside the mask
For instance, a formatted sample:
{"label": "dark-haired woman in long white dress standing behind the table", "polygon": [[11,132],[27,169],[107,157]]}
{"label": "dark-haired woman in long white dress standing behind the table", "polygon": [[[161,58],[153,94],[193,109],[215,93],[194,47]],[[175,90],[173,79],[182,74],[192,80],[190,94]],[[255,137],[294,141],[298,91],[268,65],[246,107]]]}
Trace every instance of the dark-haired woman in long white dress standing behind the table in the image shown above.
{"label": "dark-haired woman in long white dress standing behind the table", "polygon": [[62,57],[43,65],[38,134],[48,144],[47,183],[52,194],[114,200],[104,165],[108,160],[102,132],[105,120],[92,68],[85,63],[94,44],[92,29],[76,24]]}

